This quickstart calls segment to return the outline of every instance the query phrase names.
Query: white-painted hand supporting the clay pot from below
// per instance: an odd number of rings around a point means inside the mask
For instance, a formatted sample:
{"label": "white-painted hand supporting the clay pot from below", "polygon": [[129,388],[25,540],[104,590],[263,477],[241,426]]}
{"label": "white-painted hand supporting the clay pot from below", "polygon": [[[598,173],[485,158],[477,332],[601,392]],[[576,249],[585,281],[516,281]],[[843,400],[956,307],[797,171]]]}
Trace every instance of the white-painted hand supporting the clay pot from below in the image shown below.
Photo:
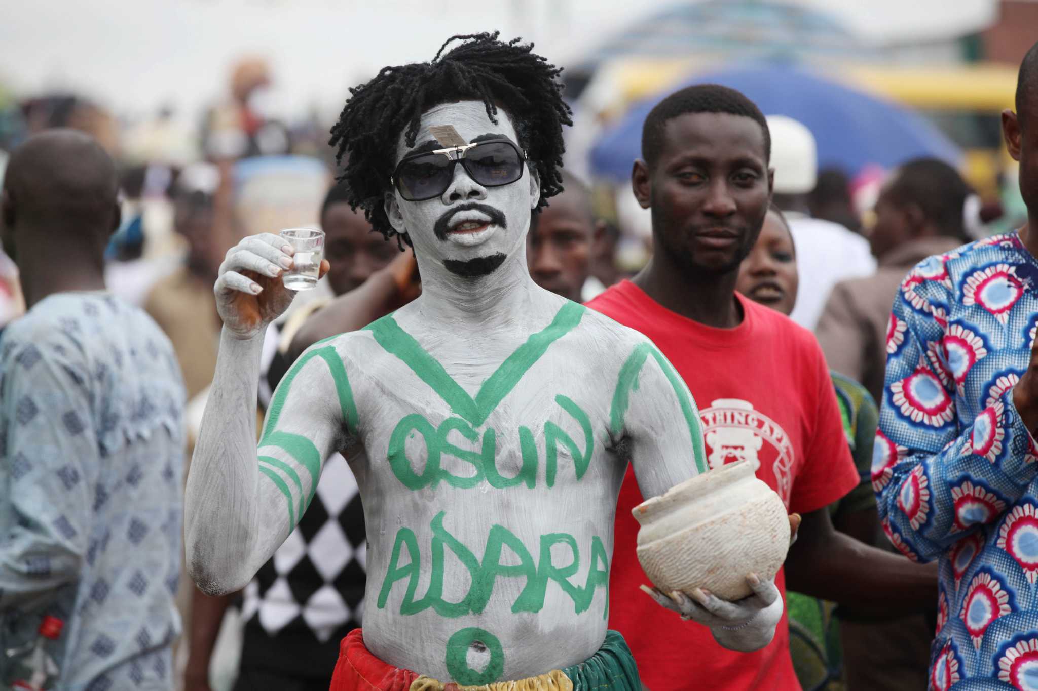
{"label": "white-painted hand supporting the clay pot from below", "polygon": [[643,585],[659,605],[672,609],[681,618],[691,620],[710,629],[714,640],[732,651],[748,653],[771,642],[782,618],[783,601],[773,580],[746,576],[754,594],[738,602],[728,602],[702,588],[689,594],[675,591],[670,596]]}

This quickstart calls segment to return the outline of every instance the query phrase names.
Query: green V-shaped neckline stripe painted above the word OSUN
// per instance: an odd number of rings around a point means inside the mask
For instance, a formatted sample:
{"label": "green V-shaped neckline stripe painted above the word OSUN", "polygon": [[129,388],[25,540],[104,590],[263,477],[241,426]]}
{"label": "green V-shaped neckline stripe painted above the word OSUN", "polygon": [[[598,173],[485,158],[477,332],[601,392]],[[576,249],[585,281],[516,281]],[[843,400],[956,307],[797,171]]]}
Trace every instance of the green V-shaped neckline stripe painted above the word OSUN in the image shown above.
{"label": "green V-shaped neckline stripe painted above the word OSUN", "polygon": [[576,303],[563,305],[550,324],[526,339],[526,342],[509,355],[483,382],[474,400],[435,357],[426,352],[414,337],[400,327],[392,315],[385,316],[364,328],[372,332],[375,340],[386,352],[403,361],[419,379],[429,384],[450,406],[455,414],[480,427],[548,347],[580,323],[585,310],[585,307]]}

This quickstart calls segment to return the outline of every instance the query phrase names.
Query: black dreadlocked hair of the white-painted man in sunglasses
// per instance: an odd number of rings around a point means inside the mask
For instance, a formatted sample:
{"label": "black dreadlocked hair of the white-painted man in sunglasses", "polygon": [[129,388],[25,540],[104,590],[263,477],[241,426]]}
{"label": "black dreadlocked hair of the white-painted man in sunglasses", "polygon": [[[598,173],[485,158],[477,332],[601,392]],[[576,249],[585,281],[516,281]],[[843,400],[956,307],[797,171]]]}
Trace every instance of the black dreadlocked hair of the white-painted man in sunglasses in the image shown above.
{"label": "black dreadlocked hair of the white-painted man in sunglasses", "polygon": [[[383,67],[371,81],[350,89],[329,144],[350,190],[350,205],[364,209],[372,228],[386,239],[411,244],[407,233],[389,224],[384,208],[397,159],[397,142],[413,147],[421,114],[452,100],[482,100],[487,116],[497,123],[497,110],[513,120],[519,145],[541,179],[538,208],[563,191],[558,169],[563,165],[563,125],[573,124],[563,102],[561,67],[532,53],[534,45],[519,38],[497,40],[499,32],[452,36],[431,62]],[[445,55],[455,40],[463,41]],[[402,242],[403,240],[403,242]]]}

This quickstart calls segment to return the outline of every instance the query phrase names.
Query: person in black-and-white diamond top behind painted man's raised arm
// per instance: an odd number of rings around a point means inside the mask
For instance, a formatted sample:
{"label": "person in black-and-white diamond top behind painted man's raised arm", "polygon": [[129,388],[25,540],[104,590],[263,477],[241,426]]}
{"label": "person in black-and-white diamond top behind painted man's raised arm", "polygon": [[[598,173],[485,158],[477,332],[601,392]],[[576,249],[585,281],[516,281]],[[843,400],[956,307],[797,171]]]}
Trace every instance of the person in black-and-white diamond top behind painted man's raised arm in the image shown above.
{"label": "person in black-and-white diamond top behind painted man's raised arm", "polygon": [[[336,184],[321,207],[325,259],[331,264],[327,277],[336,295],[360,288],[403,256],[394,243],[372,232],[347,197],[346,186]],[[271,324],[267,341],[278,346],[265,356],[261,370],[265,409],[294,361],[289,350],[293,338],[327,301],[307,304],[281,327]],[[346,460],[333,454],[299,525],[243,592],[245,629],[236,689],[327,691],[339,641],[360,626],[365,551],[357,483]],[[211,598],[194,591],[185,691],[209,691],[213,647],[224,612],[237,597]]]}

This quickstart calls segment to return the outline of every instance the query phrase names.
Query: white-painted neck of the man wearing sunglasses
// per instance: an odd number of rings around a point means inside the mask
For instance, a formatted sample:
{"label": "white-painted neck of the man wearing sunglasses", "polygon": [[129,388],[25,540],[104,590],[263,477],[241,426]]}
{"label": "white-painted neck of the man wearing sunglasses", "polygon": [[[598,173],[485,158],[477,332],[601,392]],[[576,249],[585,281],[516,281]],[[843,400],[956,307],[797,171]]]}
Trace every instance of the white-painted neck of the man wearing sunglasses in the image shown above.
{"label": "white-painted neck of the man wearing sunglasses", "polygon": [[429,266],[418,259],[421,295],[415,306],[425,319],[443,325],[480,329],[527,321],[532,316],[529,303],[547,293],[534,283],[526,269],[526,257],[510,256],[496,270],[479,278],[452,273],[440,264]]}

